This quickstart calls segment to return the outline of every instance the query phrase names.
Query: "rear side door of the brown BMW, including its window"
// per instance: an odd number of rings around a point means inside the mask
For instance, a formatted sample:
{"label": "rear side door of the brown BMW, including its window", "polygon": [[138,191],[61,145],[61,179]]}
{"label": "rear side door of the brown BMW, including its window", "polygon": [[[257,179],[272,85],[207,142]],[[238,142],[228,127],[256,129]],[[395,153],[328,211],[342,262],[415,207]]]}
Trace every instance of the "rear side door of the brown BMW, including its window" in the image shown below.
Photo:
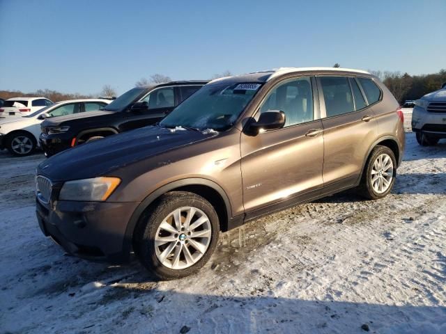
{"label": "rear side door of the brown BMW, including its window", "polygon": [[354,77],[317,78],[324,129],[324,186],[357,181],[378,136],[376,116]]}

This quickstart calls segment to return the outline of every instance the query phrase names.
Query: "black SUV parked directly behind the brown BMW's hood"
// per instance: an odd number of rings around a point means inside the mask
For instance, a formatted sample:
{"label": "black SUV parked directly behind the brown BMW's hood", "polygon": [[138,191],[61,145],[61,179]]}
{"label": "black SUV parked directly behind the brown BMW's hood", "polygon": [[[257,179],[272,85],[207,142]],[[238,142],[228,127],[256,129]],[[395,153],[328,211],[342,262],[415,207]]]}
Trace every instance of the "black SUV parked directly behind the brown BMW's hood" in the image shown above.
{"label": "black SUV parked directly behind the brown BMW's hood", "polygon": [[40,125],[40,146],[47,157],[73,146],[112,134],[153,125],[207,81],[171,81],[135,87],[104,110],[45,120]]}

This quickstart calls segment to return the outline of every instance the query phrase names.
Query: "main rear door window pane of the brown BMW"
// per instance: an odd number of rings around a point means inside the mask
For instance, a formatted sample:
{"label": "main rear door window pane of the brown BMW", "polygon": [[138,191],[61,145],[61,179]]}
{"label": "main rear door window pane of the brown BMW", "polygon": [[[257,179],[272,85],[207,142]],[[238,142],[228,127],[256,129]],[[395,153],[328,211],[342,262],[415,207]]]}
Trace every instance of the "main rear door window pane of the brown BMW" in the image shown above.
{"label": "main rear door window pane of the brown BMW", "polygon": [[321,77],[327,117],[354,111],[350,85],[345,77]]}

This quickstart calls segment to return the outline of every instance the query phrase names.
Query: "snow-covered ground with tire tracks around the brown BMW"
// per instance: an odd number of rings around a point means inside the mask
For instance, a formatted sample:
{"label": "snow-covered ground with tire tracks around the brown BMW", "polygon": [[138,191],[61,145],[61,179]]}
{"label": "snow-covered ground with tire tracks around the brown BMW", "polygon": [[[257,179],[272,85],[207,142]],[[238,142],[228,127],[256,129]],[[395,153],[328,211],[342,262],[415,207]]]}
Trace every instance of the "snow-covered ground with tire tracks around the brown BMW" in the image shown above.
{"label": "snow-covered ground with tire tracks around the brown BMW", "polygon": [[43,237],[43,159],[0,152],[0,333],[446,333],[446,141],[407,134],[383,200],[348,191],[262,218],[222,235],[196,275],[160,283]]}

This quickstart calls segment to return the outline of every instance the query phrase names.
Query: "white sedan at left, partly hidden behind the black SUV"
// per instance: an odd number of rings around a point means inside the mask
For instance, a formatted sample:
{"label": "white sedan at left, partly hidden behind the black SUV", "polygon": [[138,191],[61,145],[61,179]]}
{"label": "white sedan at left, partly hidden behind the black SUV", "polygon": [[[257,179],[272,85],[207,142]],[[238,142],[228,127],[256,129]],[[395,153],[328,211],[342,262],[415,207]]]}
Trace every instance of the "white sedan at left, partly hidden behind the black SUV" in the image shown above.
{"label": "white sedan at left, partly hidden behind the black SUV", "polygon": [[61,101],[31,113],[29,116],[0,120],[0,149],[7,148],[17,156],[31,154],[38,146],[40,123],[45,118],[71,115],[104,108],[110,100],[83,99]]}

